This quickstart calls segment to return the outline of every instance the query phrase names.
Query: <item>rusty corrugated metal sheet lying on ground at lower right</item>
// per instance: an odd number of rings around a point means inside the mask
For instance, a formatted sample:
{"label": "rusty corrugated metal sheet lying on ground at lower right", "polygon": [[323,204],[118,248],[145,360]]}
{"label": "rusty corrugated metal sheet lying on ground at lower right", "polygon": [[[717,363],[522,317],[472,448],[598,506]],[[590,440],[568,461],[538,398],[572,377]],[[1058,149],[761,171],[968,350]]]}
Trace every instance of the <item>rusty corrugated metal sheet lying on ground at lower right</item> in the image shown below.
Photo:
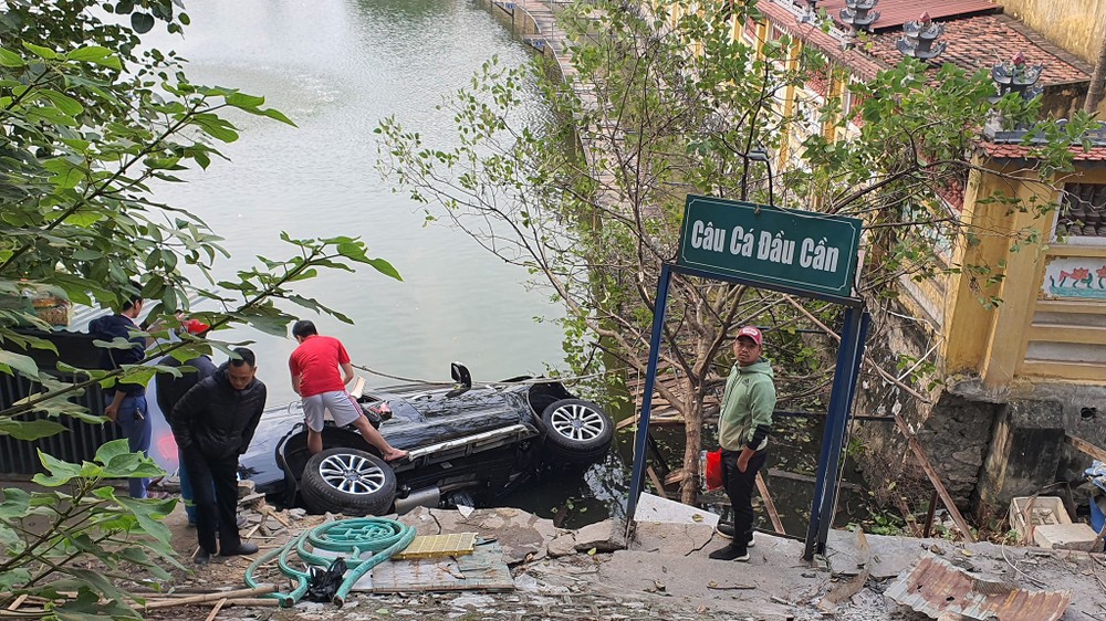
{"label": "rusty corrugated metal sheet lying on ground at lower right", "polygon": [[918,559],[885,594],[933,619],[952,613],[968,619],[1056,621],[1072,601],[1072,591],[1031,591],[982,580],[933,555]]}

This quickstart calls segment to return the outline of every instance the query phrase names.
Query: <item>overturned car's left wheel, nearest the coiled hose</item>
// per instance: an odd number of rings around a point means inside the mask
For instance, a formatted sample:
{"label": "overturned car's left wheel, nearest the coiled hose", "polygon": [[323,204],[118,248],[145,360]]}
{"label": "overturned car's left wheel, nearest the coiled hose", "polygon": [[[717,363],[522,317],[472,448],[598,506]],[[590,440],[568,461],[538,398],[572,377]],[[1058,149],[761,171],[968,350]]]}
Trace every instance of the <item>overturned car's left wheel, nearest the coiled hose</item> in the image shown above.
{"label": "overturned car's left wheel, nearest the coiled hose", "polygon": [[384,515],[395,501],[396,473],[365,451],[327,449],[307,460],[300,494],[313,512]]}

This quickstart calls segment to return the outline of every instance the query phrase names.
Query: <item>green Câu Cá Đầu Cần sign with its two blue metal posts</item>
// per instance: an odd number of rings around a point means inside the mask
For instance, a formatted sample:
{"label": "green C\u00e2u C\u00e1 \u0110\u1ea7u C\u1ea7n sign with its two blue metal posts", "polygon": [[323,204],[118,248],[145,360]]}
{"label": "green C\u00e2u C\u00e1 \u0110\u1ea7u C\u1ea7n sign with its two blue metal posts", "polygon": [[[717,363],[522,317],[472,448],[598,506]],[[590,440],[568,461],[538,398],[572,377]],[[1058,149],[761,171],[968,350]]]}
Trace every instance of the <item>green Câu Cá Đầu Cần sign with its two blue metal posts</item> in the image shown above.
{"label": "green C\u00e2u C\u00e1 \u0110\u1ea7u C\u1ea7n sign with its two blue metal posts", "polygon": [[830,399],[830,417],[818,461],[814,506],[804,558],[825,549],[837,499],[837,472],[845,430],[856,393],[870,317],[852,297],[863,223],[854,218],[688,196],[677,264],[665,264],[657,283],[653,336],[645,376],[626,503],[626,529],[633,528],[645,483],[649,414],[672,273],[744,284],[846,307]]}

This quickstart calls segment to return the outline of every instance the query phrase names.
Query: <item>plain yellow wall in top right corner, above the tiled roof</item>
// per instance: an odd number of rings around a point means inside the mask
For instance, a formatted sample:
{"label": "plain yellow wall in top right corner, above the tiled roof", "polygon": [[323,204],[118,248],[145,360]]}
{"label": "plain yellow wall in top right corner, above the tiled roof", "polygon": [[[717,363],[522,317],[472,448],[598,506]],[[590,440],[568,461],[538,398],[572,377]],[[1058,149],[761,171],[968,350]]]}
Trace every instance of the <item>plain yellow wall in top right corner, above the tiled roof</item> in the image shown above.
{"label": "plain yellow wall in top right corner, above the tiled roof", "polygon": [[1106,0],[1002,0],[1003,12],[1094,64],[1106,38]]}

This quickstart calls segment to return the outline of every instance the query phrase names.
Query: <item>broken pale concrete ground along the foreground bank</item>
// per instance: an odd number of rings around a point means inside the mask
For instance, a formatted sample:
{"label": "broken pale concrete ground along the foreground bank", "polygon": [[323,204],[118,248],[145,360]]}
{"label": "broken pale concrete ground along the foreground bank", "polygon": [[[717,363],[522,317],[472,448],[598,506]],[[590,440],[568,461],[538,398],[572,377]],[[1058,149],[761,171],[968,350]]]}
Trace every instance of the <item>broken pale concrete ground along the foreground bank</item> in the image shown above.
{"label": "broken pale concrete ground along the foreground bank", "polygon": [[[257,541],[263,548],[324,519],[268,508],[262,515],[250,515],[248,522],[265,524],[265,530],[272,533]],[[182,516],[175,514],[169,519],[182,520]],[[615,520],[570,530],[514,508],[465,514],[418,508],[398,519],[420,535],[474,531],[495,539],[511,568],[515,590],[356,593],[343,608],[309,602],[285,610],[243,606],[225,608],[217,619],[920,621],[928,617],[900,607],[884,591],[918,558],[936,555],[980,579],[1024,589],[1070,589],[1072,603],[1062,621],[1106,621],[1106,560],[1103,555],[1082,551],[868,535],[864,554],[857,549],[858,538],[853,533],[835,530],[831,533],[826,569],[820,570],[802,560],[802,541],[764,533],[757,533],[749,562],[711,560],[707,555],[728,540],[714,534],[717,517],[693,509],[678,519],[639,522],[630,541]],[[289,524],[283,529],[282,520]],[[181,548],[188,549],[195,545],[195,530],[180,528]],[[870,562],[864,566],[863,558],[870,558]],[[209,591],[241,588],[247,564],[244,559],[212,562],[195,575],[181,576],[178,587]],[[855,596],[833,607],[832,613],[820,610],[818,603],[834,586],[862,572],[868,577],[862,578],[864,586]],[[210,606],[177,608],[150,611],[147,618],[204,619],[210,611]]]}

